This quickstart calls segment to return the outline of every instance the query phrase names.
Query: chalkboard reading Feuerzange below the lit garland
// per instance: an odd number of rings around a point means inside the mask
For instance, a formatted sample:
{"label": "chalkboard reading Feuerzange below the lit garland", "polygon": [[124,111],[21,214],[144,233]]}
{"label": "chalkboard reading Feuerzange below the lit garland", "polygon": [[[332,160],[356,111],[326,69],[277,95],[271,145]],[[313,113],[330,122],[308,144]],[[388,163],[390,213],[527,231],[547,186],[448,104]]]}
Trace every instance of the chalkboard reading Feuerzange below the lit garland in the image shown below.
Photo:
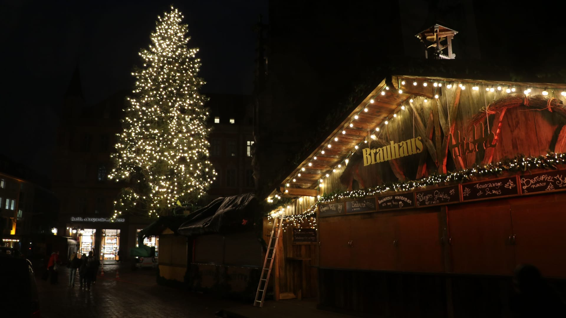
{"label": "chalkboard reading Feuerzange below the lit garland", "polygon": [[475,201],[518,195],[517,176],[462,184],[462,200]]}

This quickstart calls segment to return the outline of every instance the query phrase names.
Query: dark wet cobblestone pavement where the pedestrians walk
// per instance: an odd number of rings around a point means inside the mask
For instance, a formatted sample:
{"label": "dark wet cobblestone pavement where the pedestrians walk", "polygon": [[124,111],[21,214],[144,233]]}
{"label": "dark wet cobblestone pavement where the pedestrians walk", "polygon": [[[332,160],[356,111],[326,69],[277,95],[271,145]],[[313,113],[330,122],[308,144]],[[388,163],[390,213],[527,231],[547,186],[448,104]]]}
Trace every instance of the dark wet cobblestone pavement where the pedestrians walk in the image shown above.
{"label": "dark wet cobblestone pavement where the pedestrians walk", "polygon": [[123,266],[117,279],[118,266],[104,265],[104,276],[98,276],[91,290],[81,289],[78,277],[75,287],[69,287],[66,268],[59,272],[57,285],[41,280],[41,270],[36,270],[41,317],[199,318],[214,317],[222,308],[242,304],[157,285],[156,272],[152,269],[132,271]]}

